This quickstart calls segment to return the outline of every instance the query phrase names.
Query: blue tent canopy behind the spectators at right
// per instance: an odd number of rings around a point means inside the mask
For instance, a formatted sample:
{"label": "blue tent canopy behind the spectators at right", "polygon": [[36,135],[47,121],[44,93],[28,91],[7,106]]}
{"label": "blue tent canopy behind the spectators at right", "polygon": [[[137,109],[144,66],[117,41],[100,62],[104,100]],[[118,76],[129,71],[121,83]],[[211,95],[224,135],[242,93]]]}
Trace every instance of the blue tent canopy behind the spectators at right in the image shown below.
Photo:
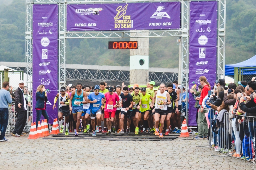
{"label": "blue tent canopy behind the spectators at right", "polygon": [[[225,65],[225,76],[234,75],[234,67],[256,67],[256,55],[241,63]],[[256,74],[256,70],[254,73],[250,72],[250,74]]]}

